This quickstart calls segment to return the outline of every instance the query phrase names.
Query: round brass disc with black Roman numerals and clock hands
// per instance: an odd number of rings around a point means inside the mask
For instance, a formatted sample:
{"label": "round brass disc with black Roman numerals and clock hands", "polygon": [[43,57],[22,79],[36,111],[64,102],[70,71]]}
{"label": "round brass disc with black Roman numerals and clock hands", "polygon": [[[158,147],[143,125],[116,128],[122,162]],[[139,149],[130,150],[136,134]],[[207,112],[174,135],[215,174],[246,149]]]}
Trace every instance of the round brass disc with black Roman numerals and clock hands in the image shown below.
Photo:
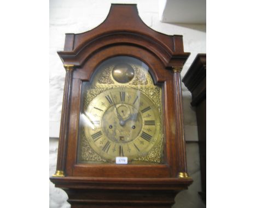
{"label": "round brass disc with black Roman numerals and clock hands", "polygon": [[140,90],[106,90],[89,103],[84,118],[88,143],[106,160],[147,155],[161,139],[158,109]]}

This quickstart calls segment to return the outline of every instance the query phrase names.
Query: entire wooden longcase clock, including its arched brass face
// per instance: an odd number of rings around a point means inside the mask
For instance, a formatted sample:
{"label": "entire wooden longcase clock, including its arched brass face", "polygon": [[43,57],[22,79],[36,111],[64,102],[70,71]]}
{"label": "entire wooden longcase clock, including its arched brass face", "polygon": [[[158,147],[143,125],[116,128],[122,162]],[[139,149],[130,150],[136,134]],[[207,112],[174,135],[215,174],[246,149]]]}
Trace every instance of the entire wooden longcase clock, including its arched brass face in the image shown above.
{"label": "entire wooden longcase clock, including its arched brass face", "polygon": [[186,168],[180,35],[112,4],[95,29],[66,34],[57,170],[71,207],[171,207]]}

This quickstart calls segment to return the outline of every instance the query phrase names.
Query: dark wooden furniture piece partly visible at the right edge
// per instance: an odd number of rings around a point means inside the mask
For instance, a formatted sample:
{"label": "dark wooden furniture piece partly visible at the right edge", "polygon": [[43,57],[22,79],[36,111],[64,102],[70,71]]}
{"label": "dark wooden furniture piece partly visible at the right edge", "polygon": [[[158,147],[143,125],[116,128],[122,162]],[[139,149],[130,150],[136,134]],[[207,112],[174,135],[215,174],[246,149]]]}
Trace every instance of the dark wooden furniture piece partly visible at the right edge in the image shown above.
{"label": "dark wooden furniture piece partly visible at the right edge", "polygon": [[197,54],[182,82],[191,91],[191,106],[196,107],[202,182],[200,195],[206,201],[206,54]]}

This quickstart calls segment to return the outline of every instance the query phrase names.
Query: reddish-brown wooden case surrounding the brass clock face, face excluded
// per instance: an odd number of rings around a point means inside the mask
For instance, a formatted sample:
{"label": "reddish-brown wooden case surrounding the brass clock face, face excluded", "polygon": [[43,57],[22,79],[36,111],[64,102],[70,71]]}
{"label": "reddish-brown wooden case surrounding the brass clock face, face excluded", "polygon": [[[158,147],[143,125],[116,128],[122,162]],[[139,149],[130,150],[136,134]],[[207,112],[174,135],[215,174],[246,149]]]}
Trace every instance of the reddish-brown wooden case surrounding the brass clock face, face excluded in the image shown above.
{"label": "reddish-brown wooden case surrounding the brass clock face, face excluded", "polygon": [[[112,4],[107,19],[80,34],[66,34],[58,52],[66,69],[57,170],[50,180],[78,207],[171,207],[193,182],[188,177],[183,131],[180,72],[190,53],[181,35],[146,26],[136,4]],[[77,164],[82,82],[104,60],[131,56],[146,63],[163,90],[165,163],[156,165]]]}

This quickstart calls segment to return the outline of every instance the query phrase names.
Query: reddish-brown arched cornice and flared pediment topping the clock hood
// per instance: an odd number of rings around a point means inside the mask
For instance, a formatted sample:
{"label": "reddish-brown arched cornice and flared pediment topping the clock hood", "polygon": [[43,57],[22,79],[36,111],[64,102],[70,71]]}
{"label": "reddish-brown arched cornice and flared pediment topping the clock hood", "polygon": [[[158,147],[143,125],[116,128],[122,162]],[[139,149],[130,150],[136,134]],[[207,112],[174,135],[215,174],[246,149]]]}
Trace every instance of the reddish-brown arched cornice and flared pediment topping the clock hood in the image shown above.
{"label": "reddish-brown arched cornice and flared pediment topping the clock hood", "polygon": [[[122,15],[118,15],[120,10]],[[81,66],[93,53],[117,44],[146,48],[171,68],[183,66],[190,54],[183,51],[181,35],[166,35],[148,27],[136,4],[112,4],[101,25],[84,33],[66,34],[64,51],[57,53],[64,64]]]}

